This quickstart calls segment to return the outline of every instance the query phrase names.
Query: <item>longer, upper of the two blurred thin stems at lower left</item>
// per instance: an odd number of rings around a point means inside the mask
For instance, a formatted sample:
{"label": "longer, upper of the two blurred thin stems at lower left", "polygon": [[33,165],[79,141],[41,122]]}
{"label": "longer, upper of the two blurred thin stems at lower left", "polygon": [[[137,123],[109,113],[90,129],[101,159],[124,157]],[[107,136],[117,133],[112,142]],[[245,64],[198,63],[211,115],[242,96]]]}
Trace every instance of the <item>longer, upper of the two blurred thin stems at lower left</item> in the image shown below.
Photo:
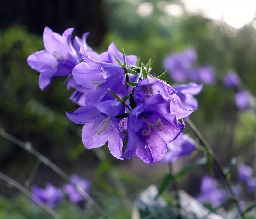
{"label": "longer, upper of the two blurred thin stems at lower left", "polygon": [[93,201],[93,199],[90,197],[90,195],[88,195],[82,188],[81,186],[76,185],[75,183],[73,183],[69,176],[63,172],[58,166],[56,166],[54,163],[52,163],[52,161],[50,161],[47,157],[45,157],[44,155],[42,155],[41,153],[39,153],[37,150],[35,150],[30,142],[22,142],[19,139],[15,138],[14,136],[6,133],[4,131],[3,128],[0,128],[0,135],[5,138],[6,140],[20,146],[22,149],[28,151],[30,154],[34,155],[38,160],[40,160],[42,163],[44,163],[45,165],[47,165],[48,167],[50,167],[56,174],[58,174],[62,179],[64,179],[65,181],[67,181],[68,183],[71,183],[76,191],[84,198],[84,200],[88,201],[88,203],[93,204],[92,208],[94,209],[94,211],[101,217],[107,217],[106,214],[104,213],[104,211],[100,208],[100,206]]}

